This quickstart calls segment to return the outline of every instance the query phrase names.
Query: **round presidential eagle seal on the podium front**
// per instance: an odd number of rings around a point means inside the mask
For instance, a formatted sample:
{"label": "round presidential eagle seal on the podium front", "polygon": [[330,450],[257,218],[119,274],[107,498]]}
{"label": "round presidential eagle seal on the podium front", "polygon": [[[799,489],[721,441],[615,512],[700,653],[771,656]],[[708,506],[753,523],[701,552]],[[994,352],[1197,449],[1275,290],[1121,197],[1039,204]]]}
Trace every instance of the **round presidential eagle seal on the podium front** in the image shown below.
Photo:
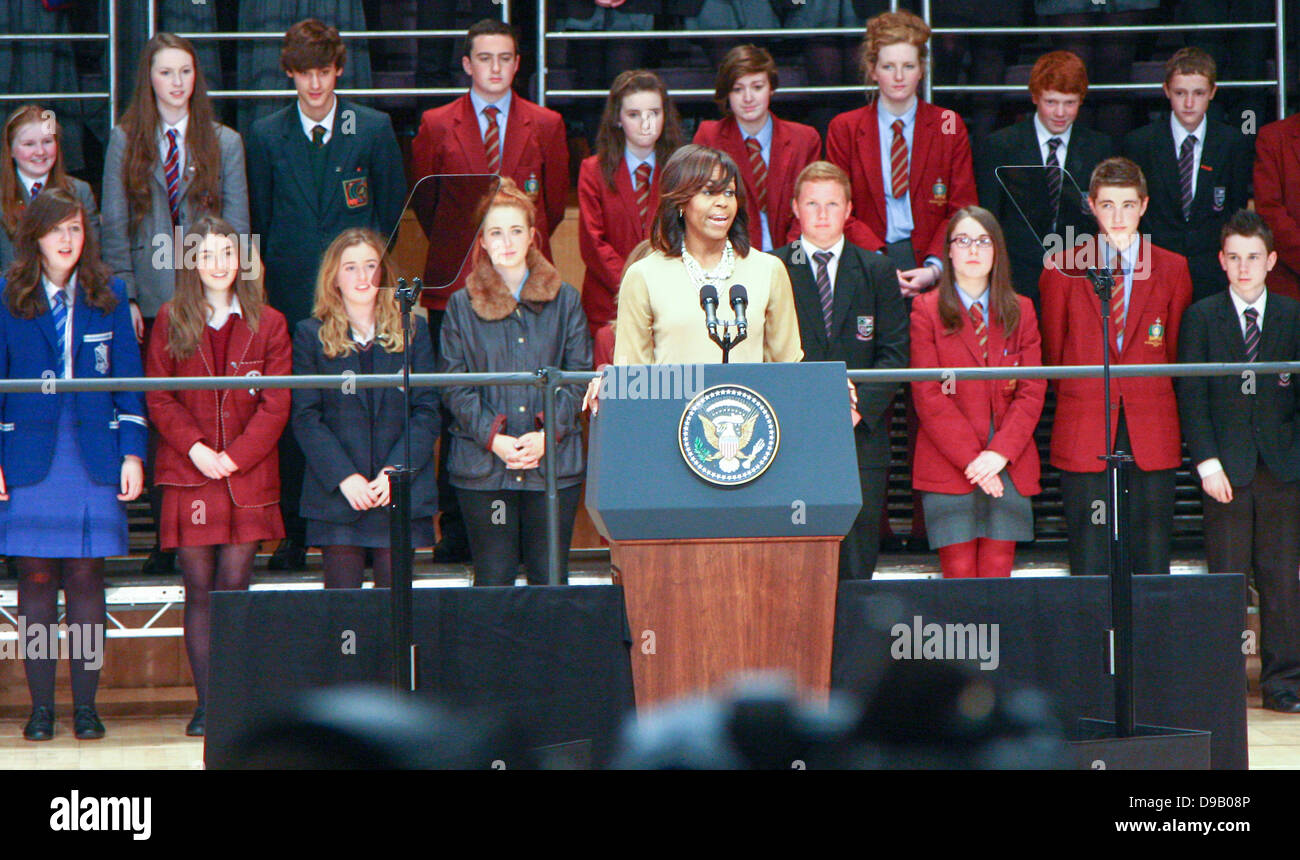
{"label": "round presidential eagle seal on the podium front", "polygon": [[714,386],[686,404],[677,427],[681,459],[722,487],[749,483],[772,465],[781,443],[776,413],[744,386]]}

